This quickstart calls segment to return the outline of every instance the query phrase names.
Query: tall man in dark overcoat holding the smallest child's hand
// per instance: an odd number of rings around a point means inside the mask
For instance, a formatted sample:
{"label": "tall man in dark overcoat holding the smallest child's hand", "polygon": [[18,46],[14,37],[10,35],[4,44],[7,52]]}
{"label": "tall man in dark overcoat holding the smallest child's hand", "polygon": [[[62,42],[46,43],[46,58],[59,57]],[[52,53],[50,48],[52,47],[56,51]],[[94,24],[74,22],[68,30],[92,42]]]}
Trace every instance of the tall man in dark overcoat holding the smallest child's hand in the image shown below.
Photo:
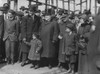
{"label": "tall man in dark overcoat holding the smallest child's hand", "polygon": [[[34,13],[36,11],[36,7],[31,5],[29,7],[29,15],[24,16],[22,19],[22,27],[21,27],[21,39],[24,41],[30,42],[32,38],[32,34],[34,32],[38,33],[40,27],[40,18],[36,16]],[[29,52],[29,46],[27,46],[24,42],[21,45],[21,53],[22,53],[22,64],[24,66],[27,61],[27,56]]]}

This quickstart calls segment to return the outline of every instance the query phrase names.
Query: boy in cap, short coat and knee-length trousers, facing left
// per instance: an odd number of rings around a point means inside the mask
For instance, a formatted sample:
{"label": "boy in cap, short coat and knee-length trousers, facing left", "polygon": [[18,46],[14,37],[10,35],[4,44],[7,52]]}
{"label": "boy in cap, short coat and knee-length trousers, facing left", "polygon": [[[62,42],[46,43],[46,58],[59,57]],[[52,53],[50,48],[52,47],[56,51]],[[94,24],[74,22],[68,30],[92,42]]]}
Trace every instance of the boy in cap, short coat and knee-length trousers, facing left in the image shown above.
{"label": "boy in cap, short coat and knee-length trousers, facing left", "polygon": [[74,66],[75,66],[75,37],[76,34],[73,32],[73,24],[69,23],[66,27],[64,38],[64,50],[62,53],[65,53],[66,62],[69,65],[68,73],[74,73]]}

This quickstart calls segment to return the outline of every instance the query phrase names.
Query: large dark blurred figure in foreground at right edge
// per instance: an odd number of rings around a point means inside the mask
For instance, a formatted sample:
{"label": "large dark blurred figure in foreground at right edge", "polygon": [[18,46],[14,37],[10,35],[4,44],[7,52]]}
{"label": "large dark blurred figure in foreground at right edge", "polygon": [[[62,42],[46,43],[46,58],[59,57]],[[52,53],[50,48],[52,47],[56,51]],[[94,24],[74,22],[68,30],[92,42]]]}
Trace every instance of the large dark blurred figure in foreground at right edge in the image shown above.
{"label": "large dark blurred figure in foreground at right edge", "polygon": [[100,9],[98,16],[95,19],[96,29],[91,33],[90,41],[87,46],[88,54],[88,72],[85,74],[100,74],[100,67],[98,68],[100,62]]}

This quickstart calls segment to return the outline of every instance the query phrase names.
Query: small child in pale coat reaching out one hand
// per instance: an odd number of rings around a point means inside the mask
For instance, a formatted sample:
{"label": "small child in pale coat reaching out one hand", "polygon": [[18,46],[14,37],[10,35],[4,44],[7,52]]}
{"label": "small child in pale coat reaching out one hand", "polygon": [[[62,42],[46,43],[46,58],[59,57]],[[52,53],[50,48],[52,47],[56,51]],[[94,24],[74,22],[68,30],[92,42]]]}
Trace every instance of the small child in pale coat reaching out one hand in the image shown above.
{"label": "small child in pale coat reaching out one hand", "polygon": [[38,39],[38,35],[34,33],[32,35],[32,40],[30,42],[24,41],[27,45],[31,46],[28,59],[32,61],[31,68],[39,68],[40,61],[40,50],[42,47],[42,42]]}

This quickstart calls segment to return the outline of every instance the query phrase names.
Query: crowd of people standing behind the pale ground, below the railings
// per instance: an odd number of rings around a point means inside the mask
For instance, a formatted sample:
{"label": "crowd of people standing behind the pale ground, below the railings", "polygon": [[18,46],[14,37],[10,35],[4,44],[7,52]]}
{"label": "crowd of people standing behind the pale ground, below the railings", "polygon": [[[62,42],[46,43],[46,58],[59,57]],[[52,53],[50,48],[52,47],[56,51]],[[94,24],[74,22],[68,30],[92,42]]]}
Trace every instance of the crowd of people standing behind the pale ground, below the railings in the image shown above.
{"label": "crowd of people standing behind the pale ground, below the railings", "polygon": [[93,45],[99,43],[99,34],[91,38],[96,31],[94,20],[90,10],[75,14],[60,9],[55,13],[53,7],[40,11],[37,5],[30,5],[14,11],[5,3],[0,7],[0,60],[12,65],[21,62],[22,67],[32,63],[35,69],[42,64],[72,74],[99,74],[86,73],[87,61],[93,61]]}

